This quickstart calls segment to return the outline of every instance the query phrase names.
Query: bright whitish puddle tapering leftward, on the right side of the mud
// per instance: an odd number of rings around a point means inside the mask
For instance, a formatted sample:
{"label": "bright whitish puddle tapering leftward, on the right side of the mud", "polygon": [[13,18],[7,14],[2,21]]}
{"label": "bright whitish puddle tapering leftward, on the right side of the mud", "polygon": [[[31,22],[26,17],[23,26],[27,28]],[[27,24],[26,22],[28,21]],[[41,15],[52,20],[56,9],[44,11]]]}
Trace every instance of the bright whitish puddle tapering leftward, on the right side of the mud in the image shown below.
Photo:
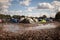
{"label": "bright whitish puddle tapering leftward, on the right side of the mud", "polygon": [[51,28],[56,28],[56,25],[54,25],[54,24],[46,24],[46,25],[41,24],[36,27],[28,27],[25,30],[39,30],[39,29],[51,29]]}

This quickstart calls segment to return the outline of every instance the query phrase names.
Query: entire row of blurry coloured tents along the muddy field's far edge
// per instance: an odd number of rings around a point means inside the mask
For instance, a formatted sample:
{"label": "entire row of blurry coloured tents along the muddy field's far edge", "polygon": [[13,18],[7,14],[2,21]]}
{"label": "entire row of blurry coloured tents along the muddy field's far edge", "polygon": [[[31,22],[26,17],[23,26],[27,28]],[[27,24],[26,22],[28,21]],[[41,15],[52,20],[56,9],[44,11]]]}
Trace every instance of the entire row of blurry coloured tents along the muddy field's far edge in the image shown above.
{"label": "entire row of blurry coloured tents along the muddy field's far edge", "polygon": [[38,22],[52,22],[53,19],[50,18],[20,18],[20,19],[15,19],[15,18],[11,18],[11,19],[0,19],[0,23],[2,22],[10,22],[10,23],[38,23]]}

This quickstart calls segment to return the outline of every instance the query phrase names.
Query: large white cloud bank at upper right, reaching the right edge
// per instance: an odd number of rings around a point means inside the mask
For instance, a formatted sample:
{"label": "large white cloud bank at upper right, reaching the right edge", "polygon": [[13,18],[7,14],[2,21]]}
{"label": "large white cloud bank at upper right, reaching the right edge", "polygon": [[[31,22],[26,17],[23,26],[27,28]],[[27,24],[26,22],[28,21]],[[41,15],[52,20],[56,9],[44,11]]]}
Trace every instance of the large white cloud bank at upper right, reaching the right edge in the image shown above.
{"label": "large white cloud bank at upper right, reaching the right edge", "polygon": [[51,3],[38,3],[38,6],[36,9],[49,9],[51,12],[58,12],[60,11],[60,1],[59,0],[54,0]]}

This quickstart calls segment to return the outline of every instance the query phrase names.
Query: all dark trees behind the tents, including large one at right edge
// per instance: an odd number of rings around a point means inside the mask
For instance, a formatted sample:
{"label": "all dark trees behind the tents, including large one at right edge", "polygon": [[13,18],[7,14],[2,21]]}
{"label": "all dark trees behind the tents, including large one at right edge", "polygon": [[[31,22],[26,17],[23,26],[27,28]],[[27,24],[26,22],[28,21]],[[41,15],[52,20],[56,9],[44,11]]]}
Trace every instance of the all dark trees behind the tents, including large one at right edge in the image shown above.
{"label": "all dark trees behind the tents, including large one at right edge", "polygon": [[[0,14],[0,19],[10,19],[10,18],[20,19],[21,17],[26,17],[26,16],[24,16],[24,15],[22,15],[22,16],[20,16],[20,15],[13,15],[13,16],[11,16],[11,15]],[[43,15],[42,17],[43,18],[47,18],[46,15]],[[33,18],[33,17],[31,17],[31,18]],[[37,17],[35,17],[35,18],[37,18]],[[52,18],[52,17],[50,17],[50,18]],[[55,20],[57,20],[57,19],[60,20],[60,12],[57,12],[56,15],[55,15]]]}

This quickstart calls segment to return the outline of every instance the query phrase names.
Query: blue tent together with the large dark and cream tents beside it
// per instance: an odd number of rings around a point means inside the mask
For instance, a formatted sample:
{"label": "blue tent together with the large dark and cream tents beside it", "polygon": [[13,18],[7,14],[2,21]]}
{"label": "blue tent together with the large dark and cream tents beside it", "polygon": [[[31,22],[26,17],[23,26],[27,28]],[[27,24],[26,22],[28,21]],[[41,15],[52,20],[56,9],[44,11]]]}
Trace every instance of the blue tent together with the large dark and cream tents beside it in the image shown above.
{"label": "blue tent together with the large dark and cream tents beside it", "polygon": [[20,18],[20,19],[12,18],[10,22],[12,23],[35,23],[35,22],[38,22],[38,20],[32,19],[32,18]]}

